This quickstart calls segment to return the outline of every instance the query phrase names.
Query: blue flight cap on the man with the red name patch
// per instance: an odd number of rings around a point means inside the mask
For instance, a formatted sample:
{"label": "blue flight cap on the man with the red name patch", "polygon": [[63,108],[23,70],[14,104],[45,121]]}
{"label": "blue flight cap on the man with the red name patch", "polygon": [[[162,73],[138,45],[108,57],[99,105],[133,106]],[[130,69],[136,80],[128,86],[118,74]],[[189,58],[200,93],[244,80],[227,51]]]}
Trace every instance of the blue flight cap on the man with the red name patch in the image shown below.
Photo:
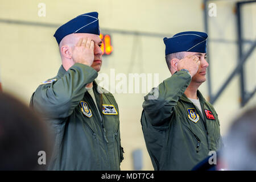
{"label": "blue flight cap on the man with the red name patch", "polygon": [[175,52],[207,52],[207,37],[205,32],[180,32],[172,38],[164,38],[166,44],[166,55]]}

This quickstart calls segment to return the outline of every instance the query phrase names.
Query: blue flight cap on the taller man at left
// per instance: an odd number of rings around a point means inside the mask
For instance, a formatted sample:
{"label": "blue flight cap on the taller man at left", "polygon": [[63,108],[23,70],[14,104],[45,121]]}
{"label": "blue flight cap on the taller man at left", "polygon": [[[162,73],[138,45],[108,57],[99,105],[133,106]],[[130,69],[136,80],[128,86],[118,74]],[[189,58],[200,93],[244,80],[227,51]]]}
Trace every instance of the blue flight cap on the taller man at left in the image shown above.
{"label": "blue flight cap on the taller man at left", "polygon": [[60,41],[66,35],[75,33],[100,35],[100,28],[98,26],[98,13],[91,12],[77,16],[76,18],[60,26],[53,36],[56,38],[57,43],[60,44]]}

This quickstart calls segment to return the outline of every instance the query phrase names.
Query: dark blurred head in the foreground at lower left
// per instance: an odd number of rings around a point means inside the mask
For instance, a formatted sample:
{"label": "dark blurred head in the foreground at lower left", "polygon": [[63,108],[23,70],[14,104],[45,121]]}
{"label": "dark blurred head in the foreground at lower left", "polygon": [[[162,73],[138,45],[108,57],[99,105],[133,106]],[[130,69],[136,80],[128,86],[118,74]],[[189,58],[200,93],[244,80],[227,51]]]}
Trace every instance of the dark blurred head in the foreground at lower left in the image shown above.
{"label": "dark blurred head in the foreground at lower left", "polygon": [[10,94],[0,93],[0,170],[46,169],[50,139],[39,115]]}

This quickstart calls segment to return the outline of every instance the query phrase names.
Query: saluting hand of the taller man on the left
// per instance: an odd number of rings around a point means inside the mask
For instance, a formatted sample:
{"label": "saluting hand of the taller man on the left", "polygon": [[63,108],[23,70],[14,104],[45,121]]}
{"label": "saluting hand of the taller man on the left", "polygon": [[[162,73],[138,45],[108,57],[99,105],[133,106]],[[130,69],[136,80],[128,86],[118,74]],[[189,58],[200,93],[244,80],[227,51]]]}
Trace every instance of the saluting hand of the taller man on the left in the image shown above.
{"label": "saluting hand of the taller man on the left", "polygon": [[94,60],[94,42],[90,38],[81,38],[77,42],[75,49],[73,50],[73,61],[75,63],[81,63],[92,65]]}

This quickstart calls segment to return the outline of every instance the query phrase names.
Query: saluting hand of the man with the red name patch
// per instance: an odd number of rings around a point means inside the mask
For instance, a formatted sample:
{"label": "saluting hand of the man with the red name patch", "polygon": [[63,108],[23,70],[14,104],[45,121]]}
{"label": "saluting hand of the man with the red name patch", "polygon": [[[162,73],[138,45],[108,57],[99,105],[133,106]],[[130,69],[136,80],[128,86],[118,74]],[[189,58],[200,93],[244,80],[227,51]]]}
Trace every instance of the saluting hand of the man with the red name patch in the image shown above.
{"label": "saluting hand of the man with the red name patch", "polygon": [[177,61],[177,71],[180,71],[181,69],[187,69],[191,77],[193,77],[194,75],[196,75],[199,69],[199,65],[200,65],[199,57],[189,55],[184,59]]}

